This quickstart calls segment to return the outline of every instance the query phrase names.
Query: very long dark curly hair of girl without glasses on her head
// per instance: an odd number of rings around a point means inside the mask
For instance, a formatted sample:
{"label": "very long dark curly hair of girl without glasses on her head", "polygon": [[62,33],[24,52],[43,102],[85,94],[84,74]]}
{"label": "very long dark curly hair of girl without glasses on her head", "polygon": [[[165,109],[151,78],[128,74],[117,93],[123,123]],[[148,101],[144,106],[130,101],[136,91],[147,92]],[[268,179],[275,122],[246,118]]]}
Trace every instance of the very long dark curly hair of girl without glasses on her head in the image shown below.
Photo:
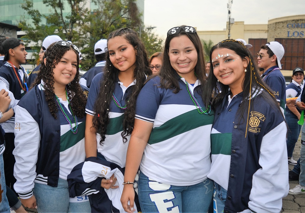
{"label": "very long dark curly hair of girl without glasses on her head", "polygon": [[[136,79],[135,86],[132,87],[131,95],[126,97],[129,100],[127,108],[124,113],[123,129],[121,133],[123,142],[127,142],[127,136],[131,134],[134,121],[135,121],[135,105],[138,94],[142,89],[142,86],[146,80],[146,76],[152,74],[152,71],[148,67],[148,57],[144,47],[144,44],[139,39],[138,34],[129,28],[121,28],[119,30],[113,31],[109,34],[108,41],[114,37],[121,36],[123,39],[127,40],[135,50],[137,50],[135,69],[133,72],[133,77]],[[95,128],[95,133],[101,135],[100,145],[105,141],[105,134],[107,130],[107,125],[109,123],[109,103],[112,101],[112,93],[114,91],[114,85],[116,83],[117,76],[120,70],[115,68],[109,59],[109,52],[106,52],[106,65],[104,68],[104,78],[100,84],[99,95],[94,104],[94,111],[96,116],[93,117],[93,127]],[[99,116],[97,116],[99,115]]]}

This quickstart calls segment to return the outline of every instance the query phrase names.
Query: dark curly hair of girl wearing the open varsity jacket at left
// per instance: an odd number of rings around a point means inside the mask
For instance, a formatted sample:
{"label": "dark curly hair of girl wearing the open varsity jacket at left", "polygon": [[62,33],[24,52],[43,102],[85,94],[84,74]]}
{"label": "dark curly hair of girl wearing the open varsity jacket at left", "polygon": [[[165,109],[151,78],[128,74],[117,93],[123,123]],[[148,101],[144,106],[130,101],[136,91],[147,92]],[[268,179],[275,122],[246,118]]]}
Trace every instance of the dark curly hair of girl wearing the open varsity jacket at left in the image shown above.
{"label": "dark curly hair of girl wearing the open varsity jacket at left", "polygon": [[[55,44],[55,43],[54,43]],[[37,75],[37,78],[32,83],[30,88],[41,83],[41,80],[44,82],[45,87],[45,99],[48,102],[49,110],[53,117],[57,118],[57,105],[55,103],[55,93],[54,93],[54,78],[53,78],[53,69],[56,67],[58,62],[61,60],[63,55],[69,51],[73,50],[77,55],[77,66],[76,66],[76,75],[73,81],[67,85],[67,93],[71,105],[71,109],[77,117],[84,117],[85,115],[85,106],[87,103],[87,97],[83,94],[83,90],[81,89],[79,82],[79,56],[77,51],[74,48],[64,47],[54,44],[51,44],[47,51],[45,52],[45,56],[41,61],[40,72]],[[54,46],[54,47],[53,47]],[[46,62],[44,63],[44,59],[46,58]],[[72,94],[74,94],[72,96]]]}

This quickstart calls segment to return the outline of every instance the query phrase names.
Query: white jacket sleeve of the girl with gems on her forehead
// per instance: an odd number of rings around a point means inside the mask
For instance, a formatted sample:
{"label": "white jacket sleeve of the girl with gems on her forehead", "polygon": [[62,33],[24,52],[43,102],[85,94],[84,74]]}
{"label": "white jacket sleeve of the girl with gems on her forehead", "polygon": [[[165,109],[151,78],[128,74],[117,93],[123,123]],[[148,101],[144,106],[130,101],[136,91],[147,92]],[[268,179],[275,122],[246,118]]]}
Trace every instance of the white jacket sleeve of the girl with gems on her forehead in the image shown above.
{"label": "white jacket sleeve of the girl with gems on her forehead", "polygon": [[283,121],[263,137],[259,159],[262,168],[253,174],[248,203],[251,211],[265,213],[282,209],[282,198],[289,191],[286,132]]}

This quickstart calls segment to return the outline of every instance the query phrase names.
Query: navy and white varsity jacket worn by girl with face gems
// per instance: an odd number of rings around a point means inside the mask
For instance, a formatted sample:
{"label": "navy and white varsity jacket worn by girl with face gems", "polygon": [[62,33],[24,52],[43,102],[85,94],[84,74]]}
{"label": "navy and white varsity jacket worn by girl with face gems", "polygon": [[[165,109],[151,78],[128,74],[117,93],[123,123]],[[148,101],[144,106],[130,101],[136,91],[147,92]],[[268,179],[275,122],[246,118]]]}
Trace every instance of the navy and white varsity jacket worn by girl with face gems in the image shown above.
{"label": "navy and white varsity jacket worn by girl with face gems", "polygon": [[[214,124],[221,113],[231,111],[230,107],[224,107],[228,95],[216,108]],[[239,122],[239,113],[232,120],[234,126],[225,213],[247,209],[280,212],[282,198],[289,191],[285,120],[261,93],[251,99],[251,105],[248,126],[246,122]],[[243,117],[247,116],[248,110]],[[248,132],[245,138],[246,128]]]}

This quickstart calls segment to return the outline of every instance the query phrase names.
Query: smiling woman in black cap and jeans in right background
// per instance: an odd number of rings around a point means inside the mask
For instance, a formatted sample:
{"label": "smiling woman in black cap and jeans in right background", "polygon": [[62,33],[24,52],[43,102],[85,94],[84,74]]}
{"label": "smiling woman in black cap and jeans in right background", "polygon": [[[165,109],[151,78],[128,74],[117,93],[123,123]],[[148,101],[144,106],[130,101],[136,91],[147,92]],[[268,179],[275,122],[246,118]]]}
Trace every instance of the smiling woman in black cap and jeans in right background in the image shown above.
{"label": "smiling woman in black cap and jeans in right background", "polygon": [[[296,67],[292,71],[290,84],[286,87],[286,98],[299,97],[302,92],[303,85],[301,84],[304,80],[304,70],[300,67]],[[298,141],[302,125],[298,124],[301,117],[301,110],[294,107],[293,104],[286,104],[285,118],[288,126],[287,132],[287,155],[288,164],[296,165],[296,161],[292,158],[292,153],[296,141]]]}

